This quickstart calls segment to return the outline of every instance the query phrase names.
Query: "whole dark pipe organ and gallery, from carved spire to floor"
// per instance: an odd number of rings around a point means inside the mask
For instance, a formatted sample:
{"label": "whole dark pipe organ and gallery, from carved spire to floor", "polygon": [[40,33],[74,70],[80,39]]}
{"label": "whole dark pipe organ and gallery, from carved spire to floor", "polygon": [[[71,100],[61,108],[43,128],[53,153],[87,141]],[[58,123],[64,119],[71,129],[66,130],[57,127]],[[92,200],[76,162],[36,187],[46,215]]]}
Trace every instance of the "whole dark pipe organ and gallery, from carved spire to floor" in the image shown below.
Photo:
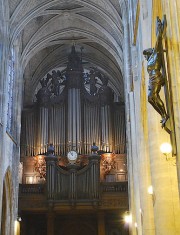
{"label": "whole dark pipe organ and gallery, from carved spire to floor", "polygon": [[[22,114],[19,211],[27,221],[22,234],[34,234],[39,226],[57,233],[59,219],[58,234],[80,232],[82,216],[90,226],[87,234],[104,233],[105,222],[117,235],[128,233],[118,223],[128,210],[124,112],[107,74],[88,68],[75,46],[65,68],[40,79]],[[67,228],[67,214],[78,225]]]}

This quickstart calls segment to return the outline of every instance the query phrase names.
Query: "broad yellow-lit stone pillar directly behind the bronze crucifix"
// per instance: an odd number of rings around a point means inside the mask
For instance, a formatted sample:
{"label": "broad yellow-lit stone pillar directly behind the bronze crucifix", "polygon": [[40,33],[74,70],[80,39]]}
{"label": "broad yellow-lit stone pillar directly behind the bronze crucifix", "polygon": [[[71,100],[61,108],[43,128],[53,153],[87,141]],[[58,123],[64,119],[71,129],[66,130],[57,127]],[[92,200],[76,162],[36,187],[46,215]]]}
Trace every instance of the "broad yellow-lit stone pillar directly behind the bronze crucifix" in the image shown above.
{"label": "broad yellow-lit stone pillar directly behind the bronze crucifix", "polygon": [[[180,49],[179,35],[180,28],[178,25],[178,12],[180,10],[179,1],[153,1],[152,9],[152,47],[156,41],[155,22],[156,17],[161,19],[164,14],[167,18],[167,48],[164,53],[167,66],[166,72],[169,80],[170,90],[172,90],[172,103],[173,114],[175,120],[175,135],[177,141],[177,164],[173,165],[173,161],[167,161],[166,157],[159,151],[159,146],[163,142],[169,142],[169,135],[160,127],[160,117],[156,114],[152,108],[149,107],[149,142],[150,142],[150,163],[151,163],[151,175],[152,185],[154,188],[154,217],[155,227],[157,234],[180,234],[180,206],[179,206],[179,191],[178,183],[179,179],[179,140],[180,140],[180,79],[179,79],[179,65],[180,65]],[[153,25],[154,24],[154,25]],[[165,39],[165,38],[163,38]],[[166,40],[163,40],[163,43]],[[164,45],[165,46],[165,45]],[[163,90],[161,93],[163,97]],[[154,115],[153,115],[154,114]]]}

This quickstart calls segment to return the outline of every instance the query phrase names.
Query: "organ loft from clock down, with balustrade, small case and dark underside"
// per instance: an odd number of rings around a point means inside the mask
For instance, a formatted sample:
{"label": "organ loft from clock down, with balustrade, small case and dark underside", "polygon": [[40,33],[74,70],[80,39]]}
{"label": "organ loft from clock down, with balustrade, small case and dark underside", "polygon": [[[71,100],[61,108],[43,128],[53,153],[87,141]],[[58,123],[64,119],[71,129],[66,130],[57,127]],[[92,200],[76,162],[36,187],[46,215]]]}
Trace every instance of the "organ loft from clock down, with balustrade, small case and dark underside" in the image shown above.
{"label": "organ loft from clock down, with balustrade, small case and dark underside", "polygon": [[88,221],[90,234],[105,234],[106,226],[123,229],[121,217],[128,211],[126,155],[76,155],[71,150],[67,157],[57,157],[54,152],[51,147],[47,155],[21,159],[21,235],[27,234],[29,223],[33,231],[41,228],[48,235],[56,234],[59,226],[63,233],[71,221],[78,228]]}

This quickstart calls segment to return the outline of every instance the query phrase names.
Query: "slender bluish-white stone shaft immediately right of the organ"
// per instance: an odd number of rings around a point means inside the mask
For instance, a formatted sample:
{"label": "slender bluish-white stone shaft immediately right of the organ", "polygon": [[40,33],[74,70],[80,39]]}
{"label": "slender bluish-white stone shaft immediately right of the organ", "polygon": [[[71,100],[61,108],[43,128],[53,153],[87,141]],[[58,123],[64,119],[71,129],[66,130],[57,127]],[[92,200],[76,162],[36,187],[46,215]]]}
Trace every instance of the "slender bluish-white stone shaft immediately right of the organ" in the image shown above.
{"label": "slender bluish-white stone shaft immediately right of the organ", "polygon": [[[127,127],[127,161],[129,167],[129,207],[130,212],[132,214],[133,223],[136,221],[138,226],[141,227],[141,217],[139,213],[140,207],[140,198],[139,198],[139,184],[138,177],[134,175],[134,164],[133,158],[135,158],[136,150],[134,149],[134,145],[131,143],[131,139],[133,136],[134,127],[130,121],[132,121],[133,111],[131,110],[131,106],[133,105],[132,99],[130,100],[129,94],[132,94],[132,63],[131,63],[131,42],[130,42],[130,31],[129,31],[129,18],[128,18],[128,1],[120,1],[121,9],[122,9],[122,21],[123,21],[123,29],[124,29],[124,42],[123,42],[123,54],[124,54],[124,90],[125,90],[125,104],[126,104],[126,127]],[[131,116],[131,118],[130,118]],[[135,143],[134,143],[135,144]],[[134,153],[135,151],[135,153]],[[136,184],[137,183],[137,184]],[[141,229],[140,229],[141,230]],[[136,229],[134,226],[131,226],[130,234],[135,235]],[[141,234],[141,233],[140,233]]]}

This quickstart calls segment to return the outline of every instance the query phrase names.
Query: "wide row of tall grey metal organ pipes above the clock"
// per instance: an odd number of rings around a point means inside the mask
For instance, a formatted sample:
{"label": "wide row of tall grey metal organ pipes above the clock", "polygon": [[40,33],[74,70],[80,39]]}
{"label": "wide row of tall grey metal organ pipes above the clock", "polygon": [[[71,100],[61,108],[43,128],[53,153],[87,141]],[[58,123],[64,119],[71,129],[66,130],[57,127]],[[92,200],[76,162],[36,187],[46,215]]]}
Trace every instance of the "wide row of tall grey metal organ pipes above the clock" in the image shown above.
{"label": "wide row of tall grey metal organ pipes above the clock", "polygon": [[[53,143],[57,155],[66,155],[68,151],[67,140],[70,144],[69,149],[73,143],[79,153],[82,152],[83,143],[84,151],[82,153],[89,154],[93,142],[104,151],[125,153],[124,109],[114,109],[113,121],[109,106],[99,108],[98,104],[84,102],[84,107],[81,109],[79,105],[81,103],[80,92],[77,92],[77,96],[75,92],[74,89],[73,96],[70,92],[68,116],[65,104],[50,108],[40,107],[38,112],[32,109],[23,113],[22,144],[25,149],[23,155],[34,156],[45,153],[47,143]],[[75,102],[72,104],[73,100]],[[76,105],[76,108],[72,109],[72,105]],[[75,123],[73,123],[74,120],[76,120]],[[66,122],[68,123],[66,124]],[[112,127],[112,123],[114,123],[114,127]]]}

